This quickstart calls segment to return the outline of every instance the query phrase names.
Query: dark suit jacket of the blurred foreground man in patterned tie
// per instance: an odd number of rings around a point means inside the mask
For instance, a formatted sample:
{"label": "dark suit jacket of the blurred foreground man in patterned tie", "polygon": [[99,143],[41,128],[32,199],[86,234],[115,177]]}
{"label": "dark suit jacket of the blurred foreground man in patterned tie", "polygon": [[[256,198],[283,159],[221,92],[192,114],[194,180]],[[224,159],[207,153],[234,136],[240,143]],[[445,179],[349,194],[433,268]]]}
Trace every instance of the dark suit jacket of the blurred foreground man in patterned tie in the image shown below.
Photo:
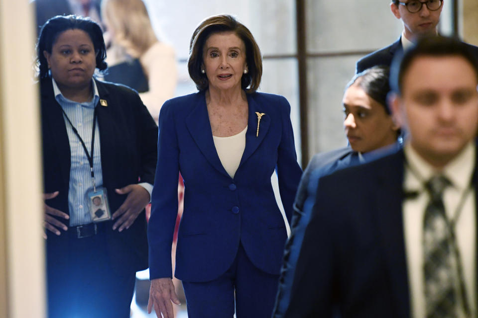
{"label": "dark suit jacket of the blurred foreground man in patterned tie", "polygon": [[400,150],[319,180],[281,317],[410,317],[403,173]]}

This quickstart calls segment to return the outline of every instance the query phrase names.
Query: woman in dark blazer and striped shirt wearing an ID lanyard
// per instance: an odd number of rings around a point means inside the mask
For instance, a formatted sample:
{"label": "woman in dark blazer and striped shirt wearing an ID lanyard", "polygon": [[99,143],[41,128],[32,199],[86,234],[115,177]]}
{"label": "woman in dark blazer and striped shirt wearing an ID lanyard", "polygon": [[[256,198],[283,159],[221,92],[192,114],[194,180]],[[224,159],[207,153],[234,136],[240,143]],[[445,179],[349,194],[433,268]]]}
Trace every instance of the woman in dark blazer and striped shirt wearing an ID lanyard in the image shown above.
{"label": "woman in dark blazer and striped shirt wearing an ID lanyard", "polygon": [[49,317],[129,317],[157,126],[135,91],[93,78],[107,67],[95,22],[51,18],[37,54]]}

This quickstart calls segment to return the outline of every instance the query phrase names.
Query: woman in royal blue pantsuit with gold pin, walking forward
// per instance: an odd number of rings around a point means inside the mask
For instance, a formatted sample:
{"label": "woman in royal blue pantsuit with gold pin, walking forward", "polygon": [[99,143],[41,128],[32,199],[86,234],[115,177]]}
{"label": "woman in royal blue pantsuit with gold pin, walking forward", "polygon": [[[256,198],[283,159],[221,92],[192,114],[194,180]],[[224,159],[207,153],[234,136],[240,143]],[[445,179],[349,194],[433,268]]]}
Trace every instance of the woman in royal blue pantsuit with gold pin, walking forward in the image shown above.
{"label": "woman in royal blue pantsuit with gold pin, walking forward", "polygon": [[173,317],[171,243],[184,178],[175,276],[190,318],[270,317],[282,262],[285,224],[271,175],[290,220],[301,176],[290,105],[258,93],[259,48],[230,15],[193,33],[189,74],[198,92],[168,100],[159,115],[158,164],[148,225],[148,311]]}

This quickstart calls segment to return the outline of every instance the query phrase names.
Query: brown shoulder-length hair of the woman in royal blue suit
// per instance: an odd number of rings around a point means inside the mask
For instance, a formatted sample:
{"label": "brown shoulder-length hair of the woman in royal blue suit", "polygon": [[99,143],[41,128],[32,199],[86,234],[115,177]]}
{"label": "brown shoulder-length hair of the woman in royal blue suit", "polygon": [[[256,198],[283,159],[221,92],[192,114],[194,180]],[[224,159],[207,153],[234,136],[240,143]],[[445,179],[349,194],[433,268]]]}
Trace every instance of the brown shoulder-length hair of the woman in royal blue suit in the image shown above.
{"label": "brown shoulder-length hair of the woman in royal blue suit", "polygon": [[247,93],[256,91],[259,88],[260,78],[262,77],[262,57],[259,46],[249,29],[229,14],[214,15],[206,18],[194,30],[189,43],[189,76],[196,83],[198,90],[208,88],[208,78],[206,74],[201,73],[203,48],[206,40],[212,34],[220,32],[234,32],[244,42],[248,72],[247,74],[242,74],[240,84]]}

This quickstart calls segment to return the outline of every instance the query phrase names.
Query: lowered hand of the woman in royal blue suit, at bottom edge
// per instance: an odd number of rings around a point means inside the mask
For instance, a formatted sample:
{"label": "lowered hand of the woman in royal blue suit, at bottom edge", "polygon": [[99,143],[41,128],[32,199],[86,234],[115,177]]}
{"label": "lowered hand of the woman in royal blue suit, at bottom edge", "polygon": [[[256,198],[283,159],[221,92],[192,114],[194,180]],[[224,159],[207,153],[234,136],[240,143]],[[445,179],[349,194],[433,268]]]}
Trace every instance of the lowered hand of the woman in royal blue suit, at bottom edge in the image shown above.
{"label": "lowered hand of the woman in royal blue suit, at bottom edge", "polygon": [[151,280],[151,288],[149,289],[148,300],[148,314],[154,307],[157,318],[174,318],[173,302],[176,305],[181,305],[178,295],[174,291],[174,285],[171,278],[156,278]]}

